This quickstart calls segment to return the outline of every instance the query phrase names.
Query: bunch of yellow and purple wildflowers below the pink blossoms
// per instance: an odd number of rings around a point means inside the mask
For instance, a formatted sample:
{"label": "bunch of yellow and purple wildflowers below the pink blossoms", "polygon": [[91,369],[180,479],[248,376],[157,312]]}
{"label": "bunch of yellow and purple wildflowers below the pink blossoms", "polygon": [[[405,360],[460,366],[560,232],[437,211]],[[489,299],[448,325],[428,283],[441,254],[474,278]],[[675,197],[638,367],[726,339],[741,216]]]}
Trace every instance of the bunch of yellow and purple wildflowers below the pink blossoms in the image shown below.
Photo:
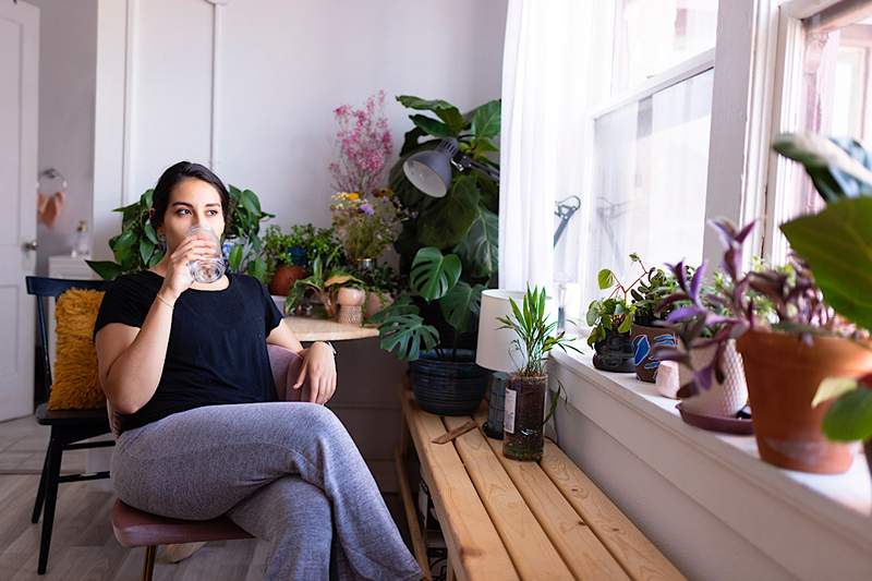
{"label": "bunch of yellow and purple wildflowers below the pink blossoms", "polygon": [[387,189],[366,197],[358,192],[334,194],[330,211],[336,235],[352,264],[362,258],[377,258],[393,244],[402,221],[409,218],[393,192]]}

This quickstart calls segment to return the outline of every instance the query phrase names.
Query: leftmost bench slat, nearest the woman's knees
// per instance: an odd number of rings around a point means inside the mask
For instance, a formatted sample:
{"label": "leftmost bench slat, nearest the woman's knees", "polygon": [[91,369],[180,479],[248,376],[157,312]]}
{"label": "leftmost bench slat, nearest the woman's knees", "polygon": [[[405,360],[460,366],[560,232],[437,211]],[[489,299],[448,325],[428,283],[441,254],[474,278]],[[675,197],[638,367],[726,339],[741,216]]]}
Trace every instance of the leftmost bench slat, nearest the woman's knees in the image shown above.
{"label": "leftmost bench slat, nearest the woman's knees", "polygon": [[431,443],[445,432],[441,420],[421,411],[409,392],[402,408],[458,579],[520,579],[457,450]]}

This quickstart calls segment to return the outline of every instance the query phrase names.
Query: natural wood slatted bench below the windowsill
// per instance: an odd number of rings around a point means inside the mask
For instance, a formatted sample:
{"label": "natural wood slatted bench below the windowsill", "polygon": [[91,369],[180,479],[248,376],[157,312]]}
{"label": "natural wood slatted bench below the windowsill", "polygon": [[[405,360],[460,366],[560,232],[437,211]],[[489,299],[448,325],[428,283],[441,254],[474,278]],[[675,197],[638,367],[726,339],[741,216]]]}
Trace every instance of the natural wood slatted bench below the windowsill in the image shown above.
{"label": "natural wood slatted bench below the windowsill", "polygon": [[[403,465],[409,435],[448,547],[449,579],[683,579],[553,443],[546,440],[541,462],[517,462],[481,429],[432,441],[470,417],[424,412],[409,390],[402,410],[397,470],[426,579],[426,547]],[[474,417],[479,426],[484,420],[484,411]]]}

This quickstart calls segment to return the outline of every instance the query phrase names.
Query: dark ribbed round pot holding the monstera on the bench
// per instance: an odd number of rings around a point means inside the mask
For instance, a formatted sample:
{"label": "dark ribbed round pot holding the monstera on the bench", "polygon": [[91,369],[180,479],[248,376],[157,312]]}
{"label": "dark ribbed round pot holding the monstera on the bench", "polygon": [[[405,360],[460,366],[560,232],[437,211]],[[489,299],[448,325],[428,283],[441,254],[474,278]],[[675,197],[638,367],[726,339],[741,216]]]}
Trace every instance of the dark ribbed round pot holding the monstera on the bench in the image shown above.
{"label": "dark ribbed round pot holding the monstera on the bench", "polygon": [[[451,350],[443,350],[451,356]],[[437,415],[470,415],[484,397],[489,371],[475,364],[475,352],[458,349],[457,356],[440,360],[435,351],[421,353],[409,364],[412,391],[421,409]]]}

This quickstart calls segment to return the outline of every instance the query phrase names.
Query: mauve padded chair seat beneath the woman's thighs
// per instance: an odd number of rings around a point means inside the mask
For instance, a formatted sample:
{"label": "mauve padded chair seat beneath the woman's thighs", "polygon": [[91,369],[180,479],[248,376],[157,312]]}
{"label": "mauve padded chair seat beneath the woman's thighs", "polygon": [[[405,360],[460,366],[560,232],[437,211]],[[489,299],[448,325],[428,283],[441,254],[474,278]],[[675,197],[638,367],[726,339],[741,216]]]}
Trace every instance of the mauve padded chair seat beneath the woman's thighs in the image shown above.
{"label": "mauve padded chair seat beneath the woman's thighs", "polygon": [[121,499],[112,507],[112,529],[125,547],[252,537],[227,517],[202,521],[169,519],[137,510]]}

